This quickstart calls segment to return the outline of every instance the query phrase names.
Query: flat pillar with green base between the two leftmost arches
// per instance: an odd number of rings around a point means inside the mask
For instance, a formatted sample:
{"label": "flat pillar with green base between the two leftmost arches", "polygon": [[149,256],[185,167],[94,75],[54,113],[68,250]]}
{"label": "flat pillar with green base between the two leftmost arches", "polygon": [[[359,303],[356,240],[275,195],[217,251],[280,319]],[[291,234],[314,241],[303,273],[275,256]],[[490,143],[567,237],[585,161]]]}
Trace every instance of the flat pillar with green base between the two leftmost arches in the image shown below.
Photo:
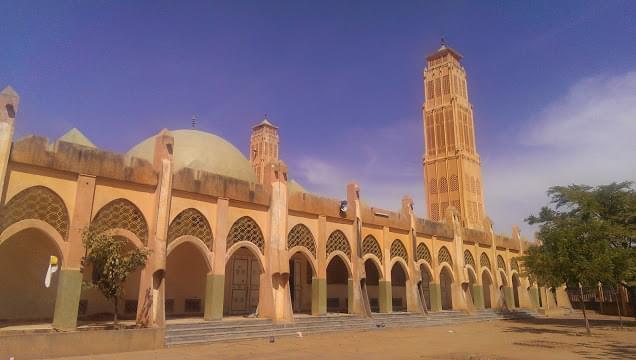
{"label": "flat pillar with green base between the two leftmost arches", "polygon": [[68,234],[69,250],[60,269],[53,313],[53,327],[72,330],[77,326],[77,313],[82,294],[81,262],[84,255],[82,233],[90,224],[95,195],[95,177],[79,175],[75,192],[75,206]]}

